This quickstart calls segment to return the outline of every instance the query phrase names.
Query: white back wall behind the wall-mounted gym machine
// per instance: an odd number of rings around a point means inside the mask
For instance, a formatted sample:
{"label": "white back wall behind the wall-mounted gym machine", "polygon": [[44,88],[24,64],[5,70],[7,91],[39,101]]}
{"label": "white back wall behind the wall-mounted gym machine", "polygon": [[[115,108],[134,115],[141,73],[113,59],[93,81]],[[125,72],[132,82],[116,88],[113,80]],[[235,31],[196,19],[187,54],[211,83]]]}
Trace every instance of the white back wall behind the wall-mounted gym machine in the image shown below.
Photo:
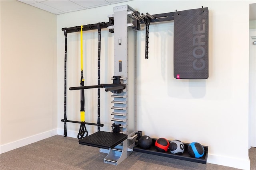
{"label": "white back wall behind the wall-mounted gym machine", "polygon": [[[208,162],[250,169],[248,158],[248,35],[249,4],[253,1],[139,1],[128,4],[139,12],[159,14],[209,9],[209,78],[173,78],[173,22],[150,25],[149,59],[144,59],[144,29],[138,31],[137,129],[151,137],[197,141],[209,146]],[[145,5],[146,4],[146,5]],[[64,123],[63,27],[108,21],[113,7],[57,16],[58,134]],[[84,32],[86,85],[97,84],[97,31]],[[113,37],[102,31],[102,83],[111,83]],[[80,35],[68,34],[68,87],[79,86]],[[104,92],[102,92],[104,93]],[[91,97],[93,95],[94,97]],[[103,130],[110,129],[110,94],[102,97]],[[68,91],[69,120],[80,120],[79,92]],[[86,121],[96,121],[96,91],[86,91]],[[104,112],[104,113],[103,113]],[[76,137],[79,125],[68,124],[68,136]],[[89,133],[96,127],[89,127]]]}

